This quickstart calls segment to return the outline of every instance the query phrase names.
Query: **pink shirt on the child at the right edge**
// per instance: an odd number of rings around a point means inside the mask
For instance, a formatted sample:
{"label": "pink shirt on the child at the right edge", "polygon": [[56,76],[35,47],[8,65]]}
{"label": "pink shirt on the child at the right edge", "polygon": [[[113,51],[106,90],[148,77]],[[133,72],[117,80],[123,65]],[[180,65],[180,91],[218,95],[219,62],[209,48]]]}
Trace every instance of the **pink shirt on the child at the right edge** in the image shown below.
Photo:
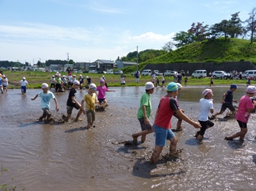
{"label": "pink shirt on the child at the right edge", "polygon": [[248,113],[248,115],[245,116],[246,109],[253,109],[253,108],[254,108],[254,104],[251,102],[251,98],[248,97],[247,95],[242,96],[241,99],[239,100],[238,110],[235,114],[235,119],[244,123],[248,123],[250,113]]}

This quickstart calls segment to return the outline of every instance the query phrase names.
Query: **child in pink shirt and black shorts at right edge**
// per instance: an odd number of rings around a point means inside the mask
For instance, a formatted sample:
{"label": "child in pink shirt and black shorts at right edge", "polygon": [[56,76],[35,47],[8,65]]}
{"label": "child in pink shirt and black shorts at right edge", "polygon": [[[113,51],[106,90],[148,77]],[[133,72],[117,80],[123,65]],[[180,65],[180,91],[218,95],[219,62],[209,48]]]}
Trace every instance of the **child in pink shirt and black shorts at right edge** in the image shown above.
{"label": "child in pink shirt and black shorts at right edge", "polygon": [[250,97],[253,97],[256,92],[256,88],[252,85],[249,85],[246,89],[246,94],[241,97],[238,105],[238,111],[235,114],[235,119],[238,121],[240,127],[240,132],[235,133],[230,137],[225,137],[225,140],[232,141],[233,138],[240,137],[240,141],[244,141],[245,135],[248,132],[247,123],[251,115],[251,110],[254,109],[256,103],[251,101]]}

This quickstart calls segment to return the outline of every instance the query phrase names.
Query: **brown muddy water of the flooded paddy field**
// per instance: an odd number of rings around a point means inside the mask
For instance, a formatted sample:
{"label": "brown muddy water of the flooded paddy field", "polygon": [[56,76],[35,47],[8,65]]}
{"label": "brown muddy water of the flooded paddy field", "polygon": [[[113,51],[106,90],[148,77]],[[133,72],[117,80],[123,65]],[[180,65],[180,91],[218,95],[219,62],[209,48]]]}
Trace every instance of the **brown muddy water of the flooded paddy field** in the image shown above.
{"label": "brown muddy water of the flooded paddy field", "polygon": [[[245,142],[226,142],[224,137],[238,131],[234,119],[214,121],[206,131],[203,143],[193,138],[192,126],[183,123],[183,132],[176,133],[178,148],[183,149],[174,161],[161,159],[149,164],[154,148],[154,135],[144,144],[124,145],[140,126],[136,119],[144,88],[111,88],[107,94],[109,107],[96,113],[95,128],[86,129],[86,116],[78,123],[37,122],[41,116],[40,99],[32,101],[39,90],[10,90],[0,94],[0,165],[8,172],[0,176],[0,184],[15,184],[28,191],[48,190],[255,190],[256,150],[255,114],[248,123]],[[178,100],[186,114],[196,120],[199,98],[204,87],[185,87]],[[215,111],[221,107],[222,94],[228,87],[213,87]],[[245,92],[245,86],[235,91],[235,99]],[[86,91],[78,91],[82,100]],[[152,116],[160,97],[166,94],[155,88]],[[52,101],[51,112],[58,120],[66,113],[68,92],[57,93],[60,111]],[[77,111],[73,111],[73,117]],[[172,119],[176,124],[176,119]],[[167,142],[169,145],[169,142]],[[166,154],[168,147],[164,148]],[[12,180],[13,179],[13,180]]]}

